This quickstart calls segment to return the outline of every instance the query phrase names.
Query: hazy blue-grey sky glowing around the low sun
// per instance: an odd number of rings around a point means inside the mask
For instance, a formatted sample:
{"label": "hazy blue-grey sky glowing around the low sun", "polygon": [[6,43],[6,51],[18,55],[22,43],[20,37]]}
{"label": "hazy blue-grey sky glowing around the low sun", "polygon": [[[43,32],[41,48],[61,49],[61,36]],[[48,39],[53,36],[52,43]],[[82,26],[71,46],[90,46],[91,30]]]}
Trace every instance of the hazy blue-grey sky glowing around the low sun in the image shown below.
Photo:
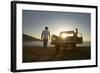
{"label": "hazy blue-grey sky glowing around the low sun", "polygon": [[40,38],[47,26],[52,34],[79,29],[85,41],[90,41],[91,15],[89,13],[23,10],[23,33]]}

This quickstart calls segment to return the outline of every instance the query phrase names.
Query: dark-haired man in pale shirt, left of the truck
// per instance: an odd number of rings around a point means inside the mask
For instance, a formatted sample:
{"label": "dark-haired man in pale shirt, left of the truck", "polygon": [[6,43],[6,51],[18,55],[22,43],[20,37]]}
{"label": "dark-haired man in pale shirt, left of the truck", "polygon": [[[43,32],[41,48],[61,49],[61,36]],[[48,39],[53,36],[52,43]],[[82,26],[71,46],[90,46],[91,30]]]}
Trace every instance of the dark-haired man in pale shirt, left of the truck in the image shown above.
{"label": "dark-haired man in pale shirt, left of the truck", "polygon": [[48,30],[48,27],[45,27],[45,30],[42,31],[41,40],[43,41],[44,48],[46,48],[48,40],[50,40],[50,32]]}

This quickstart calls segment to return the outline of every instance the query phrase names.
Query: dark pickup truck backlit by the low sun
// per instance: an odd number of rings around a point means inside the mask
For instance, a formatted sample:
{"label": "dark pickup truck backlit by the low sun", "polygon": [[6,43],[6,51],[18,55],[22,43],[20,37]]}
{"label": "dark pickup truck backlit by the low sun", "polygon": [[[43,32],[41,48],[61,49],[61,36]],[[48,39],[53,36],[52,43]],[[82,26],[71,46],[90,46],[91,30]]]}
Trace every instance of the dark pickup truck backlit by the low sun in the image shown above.
{"label": "dark pickup truck backlit by the low sun", "polygon": [[79,33],[77,29],[76,31],[62,31],[59,36],[54,34],[51,36],[51,45],[54,45],[56,49],[71,47],[75,50],[76,44],[83,44],[82,33]]}

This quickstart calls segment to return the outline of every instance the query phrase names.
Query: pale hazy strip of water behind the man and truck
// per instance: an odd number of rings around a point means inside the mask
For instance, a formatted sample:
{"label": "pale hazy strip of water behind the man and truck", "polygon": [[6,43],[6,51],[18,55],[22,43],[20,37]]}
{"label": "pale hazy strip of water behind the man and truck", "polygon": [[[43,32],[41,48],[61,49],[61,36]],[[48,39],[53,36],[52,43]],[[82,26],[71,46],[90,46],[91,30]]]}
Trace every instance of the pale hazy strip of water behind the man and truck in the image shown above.
{"label": "pale hazy strip of water behind the man and truck", "polygon": [[[23,46],[43,46],[43,42],[42,41],[23,42]],[[91,43],[83,42],[83,44],[77,44],[77,46],[91,46]],[[54,47],[54,45],[51,45],[51,42],[48,42],[48,47]]]}

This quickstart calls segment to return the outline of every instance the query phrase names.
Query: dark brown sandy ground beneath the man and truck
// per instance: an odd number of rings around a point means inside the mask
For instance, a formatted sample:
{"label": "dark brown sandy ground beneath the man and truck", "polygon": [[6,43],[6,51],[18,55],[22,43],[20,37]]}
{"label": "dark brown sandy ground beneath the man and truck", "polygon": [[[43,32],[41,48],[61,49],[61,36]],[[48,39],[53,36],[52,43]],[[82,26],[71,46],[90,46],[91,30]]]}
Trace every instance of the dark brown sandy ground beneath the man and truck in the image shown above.
{"label": "dark brown sandy ground beneath the man and truck", "polygon": [[78,46],[75,51],[72,48],[66,48],[65,50],[60,48],[59,53],[56,53],[54,47],[45,49],[41,46],[23,46],[23,63],[91,59],[90,46]]}

